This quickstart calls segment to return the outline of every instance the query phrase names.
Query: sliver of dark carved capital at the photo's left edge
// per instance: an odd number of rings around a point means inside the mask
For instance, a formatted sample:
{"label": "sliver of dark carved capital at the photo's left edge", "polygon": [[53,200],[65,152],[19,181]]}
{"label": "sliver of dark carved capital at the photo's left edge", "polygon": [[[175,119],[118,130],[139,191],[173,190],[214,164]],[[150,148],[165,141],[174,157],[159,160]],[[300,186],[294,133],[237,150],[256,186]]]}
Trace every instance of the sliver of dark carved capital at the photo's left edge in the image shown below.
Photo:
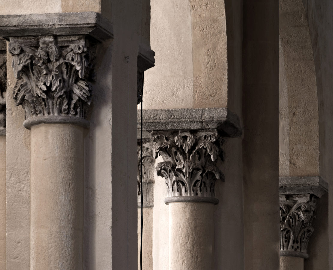
{"label": "sliver of dark carved capital at the photo's left edge", "polygon": [[6,47],[6,42],[3,39],[0,39],[0,135],[6,135]]}

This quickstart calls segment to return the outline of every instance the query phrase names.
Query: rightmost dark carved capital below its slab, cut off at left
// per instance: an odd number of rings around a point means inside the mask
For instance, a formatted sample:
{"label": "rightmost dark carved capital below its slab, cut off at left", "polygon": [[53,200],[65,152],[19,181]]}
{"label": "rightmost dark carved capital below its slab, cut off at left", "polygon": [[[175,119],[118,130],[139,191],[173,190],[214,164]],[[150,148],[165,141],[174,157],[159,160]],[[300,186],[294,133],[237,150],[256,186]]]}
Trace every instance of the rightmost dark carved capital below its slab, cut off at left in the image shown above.
{"label": "rightmost dark carved capital below its slab, cut off at left", "polygon": [[308,258],[315,208],[313,195],[280,195],[280,256]]}

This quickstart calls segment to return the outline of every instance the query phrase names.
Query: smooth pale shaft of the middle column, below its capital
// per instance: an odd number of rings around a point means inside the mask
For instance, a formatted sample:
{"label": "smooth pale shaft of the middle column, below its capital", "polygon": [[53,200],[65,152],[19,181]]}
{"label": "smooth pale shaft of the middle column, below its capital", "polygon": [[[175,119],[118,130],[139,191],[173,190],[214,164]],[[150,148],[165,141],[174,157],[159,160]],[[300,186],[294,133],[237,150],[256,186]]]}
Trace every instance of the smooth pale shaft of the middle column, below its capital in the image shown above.
{"label": "smooth pale shaft of the middle column, below its capital", "polygon": [[169,203],[169,269],[212,270],[213,204]]}

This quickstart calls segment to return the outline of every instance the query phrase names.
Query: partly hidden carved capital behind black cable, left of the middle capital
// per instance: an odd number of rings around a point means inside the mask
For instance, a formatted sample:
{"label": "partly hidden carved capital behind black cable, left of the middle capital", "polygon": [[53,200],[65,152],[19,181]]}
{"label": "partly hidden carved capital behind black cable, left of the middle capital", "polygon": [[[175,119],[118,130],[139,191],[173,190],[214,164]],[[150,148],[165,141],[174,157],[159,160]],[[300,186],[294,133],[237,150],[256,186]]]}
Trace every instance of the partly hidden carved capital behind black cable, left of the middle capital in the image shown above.
{"label": "partly hidden carved capital behind black cable, left of the middle capital", "polygon": [[[154,206],[154,163],[155,159],[152,152],[151,140],[143,140],[142,148],[142,194],[143,194],[143,207]],[[141,207],[141,146],[138,140],[138,207]]]}

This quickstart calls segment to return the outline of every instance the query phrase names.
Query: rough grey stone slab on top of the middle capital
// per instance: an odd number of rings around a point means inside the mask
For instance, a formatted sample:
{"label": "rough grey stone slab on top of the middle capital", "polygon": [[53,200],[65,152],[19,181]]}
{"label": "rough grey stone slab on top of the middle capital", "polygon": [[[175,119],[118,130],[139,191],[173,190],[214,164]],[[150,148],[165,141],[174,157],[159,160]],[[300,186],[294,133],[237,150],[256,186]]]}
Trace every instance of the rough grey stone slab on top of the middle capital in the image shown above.
{"label": "rough grey stone slab on top of the middle capital", "polygon": [[[138,110],[140,130],[141,110]],[[143,129],[151,131],[217,129],[225,137],[242,135],[239,117],[227,108],[143,110]]]}

